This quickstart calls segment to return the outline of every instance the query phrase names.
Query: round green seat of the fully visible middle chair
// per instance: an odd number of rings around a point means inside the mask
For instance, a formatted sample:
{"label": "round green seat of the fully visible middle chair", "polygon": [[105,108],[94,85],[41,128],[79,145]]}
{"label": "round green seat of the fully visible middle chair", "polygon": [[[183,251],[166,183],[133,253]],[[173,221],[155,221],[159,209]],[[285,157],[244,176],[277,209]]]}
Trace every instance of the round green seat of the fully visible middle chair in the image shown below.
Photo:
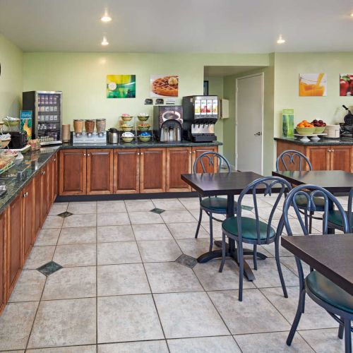
{"label": "round green seat of the fully visible middle chair", "polygon": [[[267,238],[268,224],[265,222],[258,221],[260,228],[260,239],[265,240]],[[227,220],[222,222],[222,229],[230,234],[234,234],[238,237],[238,223],[237,217],[229,217]],[[270,227],[270,238],[275,237],[276,232],[273,227]],[[258,239],[256,232],[256,220],[249,217],[241,217],[241,236],[244,239],[254,240]]]}

